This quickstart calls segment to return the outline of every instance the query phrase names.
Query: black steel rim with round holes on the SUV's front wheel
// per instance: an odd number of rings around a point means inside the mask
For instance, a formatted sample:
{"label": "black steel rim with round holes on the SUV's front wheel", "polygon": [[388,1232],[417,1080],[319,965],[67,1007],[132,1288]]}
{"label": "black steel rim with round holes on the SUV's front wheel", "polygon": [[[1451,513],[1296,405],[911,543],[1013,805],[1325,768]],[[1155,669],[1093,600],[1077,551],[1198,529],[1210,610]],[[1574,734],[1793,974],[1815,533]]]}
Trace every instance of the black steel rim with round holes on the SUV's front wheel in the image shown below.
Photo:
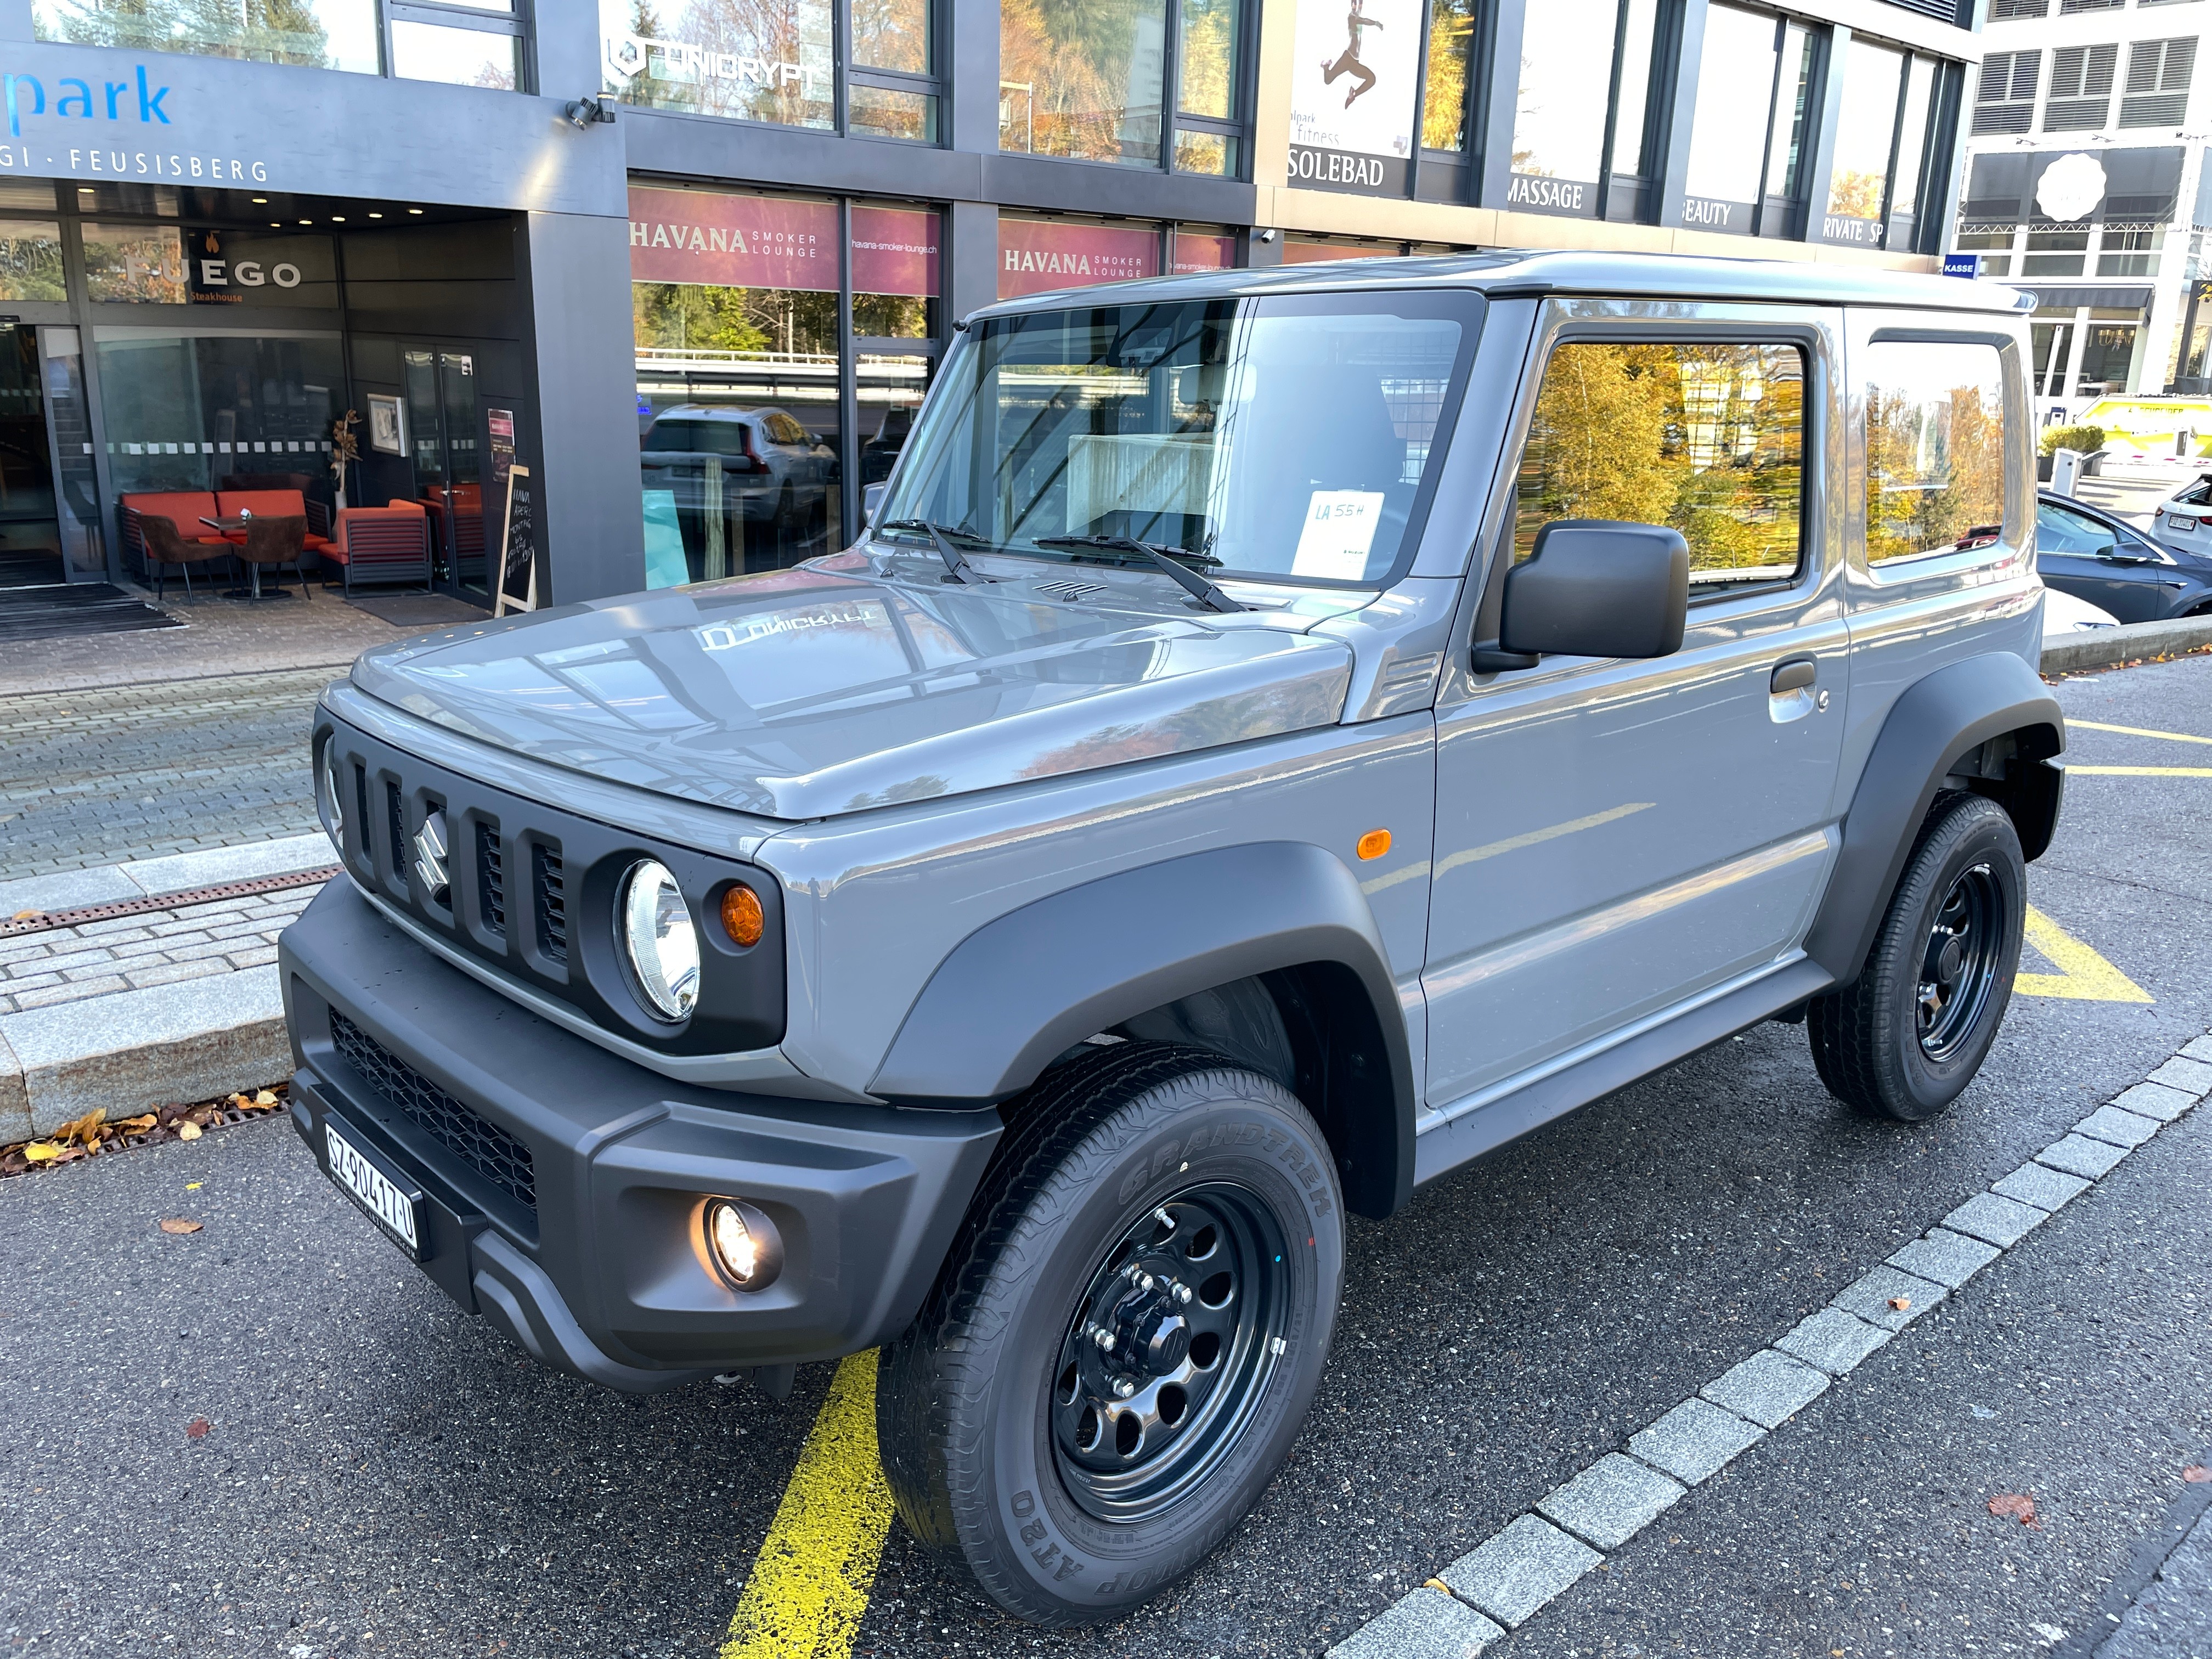
{"label": "black steel rim with round holes on the SUV's front wheel", "polygon": [[1283,1230],[1256,1194],[1177,1192],[1124,1232],[1053,1378],[1053,1462],[1099,1520],[1175,1504],[1252,1422],[1281,1360]]}

